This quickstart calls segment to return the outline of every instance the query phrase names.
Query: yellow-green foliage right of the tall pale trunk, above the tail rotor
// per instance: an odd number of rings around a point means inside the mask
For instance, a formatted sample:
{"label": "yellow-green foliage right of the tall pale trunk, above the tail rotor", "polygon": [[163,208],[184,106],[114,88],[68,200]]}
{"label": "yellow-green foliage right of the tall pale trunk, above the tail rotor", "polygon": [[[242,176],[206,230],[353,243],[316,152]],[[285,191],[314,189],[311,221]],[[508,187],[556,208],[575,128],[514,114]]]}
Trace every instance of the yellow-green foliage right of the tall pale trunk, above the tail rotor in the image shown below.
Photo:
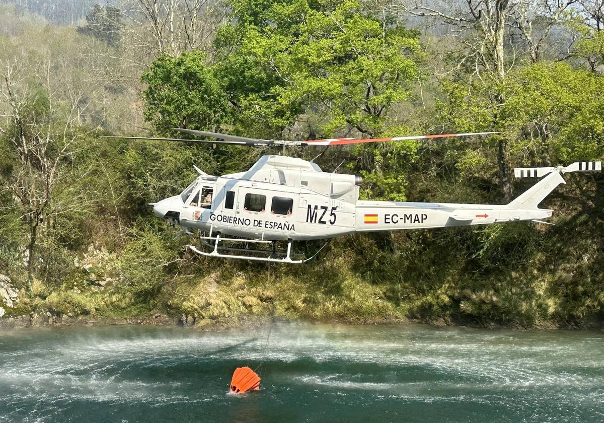
{"label": "yellow-green foliage right of the tall pale trunk, above the tail rotor", "polygon": [[[519,133],[524,163],[570,163],[604,155],[604,79],[566,63],[539,63],[513,74],[503,87],[506,130]],[[527,153],[528,152],[528,153]]]}

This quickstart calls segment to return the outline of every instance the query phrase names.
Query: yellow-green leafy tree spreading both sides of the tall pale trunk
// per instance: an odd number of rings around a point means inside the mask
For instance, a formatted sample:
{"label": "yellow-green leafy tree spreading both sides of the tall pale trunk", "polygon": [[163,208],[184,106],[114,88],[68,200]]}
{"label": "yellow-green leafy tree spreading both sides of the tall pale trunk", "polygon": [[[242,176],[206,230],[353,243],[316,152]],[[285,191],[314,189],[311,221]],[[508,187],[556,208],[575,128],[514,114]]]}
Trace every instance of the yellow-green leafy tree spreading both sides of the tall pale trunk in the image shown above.
{"label": "yellow-green leafy tree spreading both sides of the tall pale trunk", "polygon": [[[448,84],[449,102],[441,105],[445,120],[463,129],[486,124],[496,115],[510,143],[514,163],[552,166],[599,160],[604,154],[604,80],[566,63],[536,63],[510,72],[492,87],[506,101],[490,108],[481,86],[467,90]],[[493,110],[494,109],[494,110]]]}

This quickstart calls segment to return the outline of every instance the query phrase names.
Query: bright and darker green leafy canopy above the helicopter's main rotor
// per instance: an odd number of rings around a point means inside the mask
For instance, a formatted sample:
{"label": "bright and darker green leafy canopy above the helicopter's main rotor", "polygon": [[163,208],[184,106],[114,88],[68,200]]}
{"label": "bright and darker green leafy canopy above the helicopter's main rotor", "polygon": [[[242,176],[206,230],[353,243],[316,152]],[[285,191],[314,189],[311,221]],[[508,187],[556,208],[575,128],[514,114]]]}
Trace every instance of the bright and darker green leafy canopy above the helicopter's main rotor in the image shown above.
{"label": "bright and darker green leafy canopy above the helicopter's main rotor", "polygon": [[321,135],[349,129],[379,135],[392,124],[388,112],[420,77],[417,33],[357,0],[236,0],[233,7],[235,23],[217,36],[216,64],[199,53],[162,57],[144,76],[155,128],[222,122],[277,136],[312,112],[323,117]]}

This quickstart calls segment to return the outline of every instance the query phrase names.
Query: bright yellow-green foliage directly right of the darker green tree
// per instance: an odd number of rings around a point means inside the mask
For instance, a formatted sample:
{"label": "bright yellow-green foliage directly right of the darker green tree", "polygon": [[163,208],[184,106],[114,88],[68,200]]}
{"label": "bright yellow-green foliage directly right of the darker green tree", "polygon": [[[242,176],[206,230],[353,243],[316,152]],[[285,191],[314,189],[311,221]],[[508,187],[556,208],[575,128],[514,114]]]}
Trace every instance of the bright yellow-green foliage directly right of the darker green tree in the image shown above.
{"label": "bright yellow-green foliage directly right of the darker green tree", "polygon": [[242,44],[273,62],[286,82],[277,101],[326,108],[327,134],[349,126],[383,132],[383,117],[408,97],[419,77],[417,34],[384,30],[385,22],[356,1],[327,12],[312,10],[306,1],[275,4],[271,11],[277,26],[249,31]]}

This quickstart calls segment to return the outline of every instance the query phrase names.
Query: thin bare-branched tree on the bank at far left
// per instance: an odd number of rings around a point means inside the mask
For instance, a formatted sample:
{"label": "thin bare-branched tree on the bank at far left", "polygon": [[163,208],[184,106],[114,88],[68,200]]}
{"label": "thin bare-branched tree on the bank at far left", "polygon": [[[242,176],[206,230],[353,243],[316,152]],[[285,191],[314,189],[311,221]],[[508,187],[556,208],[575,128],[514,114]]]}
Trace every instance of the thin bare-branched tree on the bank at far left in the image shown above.
{"label": "thin bare-branched tree on the bank at far left", "polygon": [[[37,263],[40,228],[47,232],[59,215],[79,212],[86,201],[78,195],[64,197],[86,169],[75,157],[85,149],[85,131],[77,128],[86,110],[86,87],[68,73],[51,73],[56,57],[38,56],[29,63],[19,51],[0,60],[0,142],[10,158],[3,175],[2,191],[10,192],[13,204],[27,228],[27,273],[31,279]],[[64,63],[63,63],[64,64]]]}

